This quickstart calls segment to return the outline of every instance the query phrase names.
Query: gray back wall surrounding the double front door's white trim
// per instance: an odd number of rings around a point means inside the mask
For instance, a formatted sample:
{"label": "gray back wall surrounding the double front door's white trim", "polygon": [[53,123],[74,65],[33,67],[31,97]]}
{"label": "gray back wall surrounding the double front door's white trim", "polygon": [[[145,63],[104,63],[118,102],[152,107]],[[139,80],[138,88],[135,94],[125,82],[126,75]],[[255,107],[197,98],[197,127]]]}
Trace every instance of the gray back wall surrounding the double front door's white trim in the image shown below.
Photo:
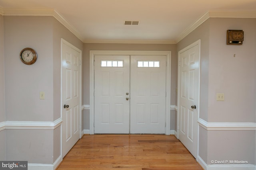
{"label": "gray back wall surrounding the double front door's white trim", "polygon": [[[176,104],[176,45],[175,44],[101,44],[85,43],[83,56],[84,104],[90,104],[90,50],[127,50],[127,51],[172,51],[171,66],[171,103]],[[171,112],[171,128],[174,130],[175,111]],[[84,129],[90,129],[89,110],[84,110]]]}

